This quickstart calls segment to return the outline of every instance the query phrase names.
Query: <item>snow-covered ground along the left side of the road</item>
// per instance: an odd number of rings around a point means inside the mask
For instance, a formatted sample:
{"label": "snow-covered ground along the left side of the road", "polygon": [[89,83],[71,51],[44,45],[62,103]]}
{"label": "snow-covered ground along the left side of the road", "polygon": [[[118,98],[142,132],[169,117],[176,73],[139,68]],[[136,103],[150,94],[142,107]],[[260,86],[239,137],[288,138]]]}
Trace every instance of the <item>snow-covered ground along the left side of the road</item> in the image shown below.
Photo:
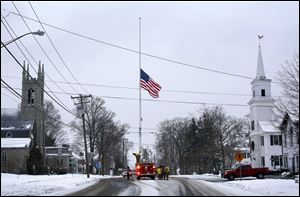
{"label": "snow-covered ground along the left side of the road", "polygon": [[32,176],[1,173],[1,196],[64,195],[88,187],[101,178],[90,175],[88,179],[85,174]]}

